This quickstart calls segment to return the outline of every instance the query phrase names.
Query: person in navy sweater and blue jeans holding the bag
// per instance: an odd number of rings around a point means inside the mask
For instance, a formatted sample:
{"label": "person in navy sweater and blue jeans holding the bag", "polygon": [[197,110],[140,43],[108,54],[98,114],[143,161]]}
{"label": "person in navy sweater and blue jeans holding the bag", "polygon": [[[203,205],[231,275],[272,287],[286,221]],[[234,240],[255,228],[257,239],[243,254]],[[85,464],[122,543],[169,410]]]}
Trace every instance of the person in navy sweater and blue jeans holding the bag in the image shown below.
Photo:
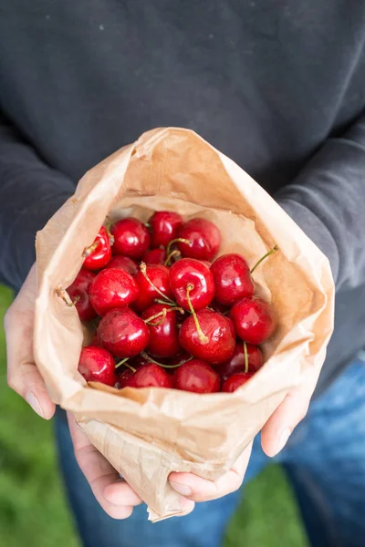
{"label": "person in navy sweater and blue jeans holding the bag", "polygon": [[268,457],[285,466],[312,545],[363,545],[365,4],[12,0],[0,41],[0,279],[19,291],[5,317],[8,383],[41,417],[55,405],[32,353],[36,231],[86,170],[147,129],[194,129],[235,160],[327,255],[336,284],[325,366],[276,408],[249,464],[250,447],[215,482],[172,473],[182,519],[149,523],[57,409],[84,545],[218,547],[244,476]]}

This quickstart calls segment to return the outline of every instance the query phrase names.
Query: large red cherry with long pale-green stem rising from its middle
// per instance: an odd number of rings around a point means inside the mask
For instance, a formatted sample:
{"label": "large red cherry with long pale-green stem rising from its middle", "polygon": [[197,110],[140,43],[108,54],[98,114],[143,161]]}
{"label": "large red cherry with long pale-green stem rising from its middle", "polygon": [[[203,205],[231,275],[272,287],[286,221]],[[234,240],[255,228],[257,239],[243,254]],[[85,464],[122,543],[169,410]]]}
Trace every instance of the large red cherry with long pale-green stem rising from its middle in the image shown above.
{"label": "large red cherry with long pale-green stem rising from its middle", "polygon": [[228,361],[235,352],[235,328],[231,319],[207,309],[200,310],[196,316],[208,342],[200,340],[191,316],[180,328],[179,341],[183,349],[211,365]]}

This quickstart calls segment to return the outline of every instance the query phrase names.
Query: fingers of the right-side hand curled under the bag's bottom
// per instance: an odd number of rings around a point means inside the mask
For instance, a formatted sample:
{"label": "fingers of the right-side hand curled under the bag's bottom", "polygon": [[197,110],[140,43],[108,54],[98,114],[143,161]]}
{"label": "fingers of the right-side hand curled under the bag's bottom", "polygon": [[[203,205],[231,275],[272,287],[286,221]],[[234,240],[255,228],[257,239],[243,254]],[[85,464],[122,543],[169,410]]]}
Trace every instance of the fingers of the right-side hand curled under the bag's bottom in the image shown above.
{"label": "fingers of the right-side hand curled under the bag's bottom", "polygon": [[242,486],[250,459],[252,443],[235,461],[231,470],[217,480],[205,480],[193,473],[172,473],[169,477],[172,488],[192,501],[209,501],[222,498]]}

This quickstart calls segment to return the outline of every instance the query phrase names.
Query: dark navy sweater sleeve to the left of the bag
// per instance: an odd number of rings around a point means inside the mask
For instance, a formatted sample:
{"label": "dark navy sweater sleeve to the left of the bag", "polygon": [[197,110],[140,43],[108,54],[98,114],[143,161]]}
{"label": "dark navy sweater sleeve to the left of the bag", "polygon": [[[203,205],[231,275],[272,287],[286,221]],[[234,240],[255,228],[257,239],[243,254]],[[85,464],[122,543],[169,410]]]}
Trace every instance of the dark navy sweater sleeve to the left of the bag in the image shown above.
{"label": "dark navy sweater sleeve to the left of the bag", "polygon": [[36,232],[74,191],[0,114],[0,283],[20,288],[36,259]]}

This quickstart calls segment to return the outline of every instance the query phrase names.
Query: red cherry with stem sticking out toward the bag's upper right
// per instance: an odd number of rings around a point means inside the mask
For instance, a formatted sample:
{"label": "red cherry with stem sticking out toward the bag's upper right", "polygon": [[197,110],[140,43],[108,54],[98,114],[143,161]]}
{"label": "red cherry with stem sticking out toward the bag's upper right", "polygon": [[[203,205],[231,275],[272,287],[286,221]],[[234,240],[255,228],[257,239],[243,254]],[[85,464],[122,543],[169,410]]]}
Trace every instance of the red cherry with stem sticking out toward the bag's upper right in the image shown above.
{"label": "red cherry with stem sticking out toward the bag's upper right", "polygon": [[223,254],[211,266],[214,277],[215,300],[232,306],[244,296],[252,296],[255,284],[250,268],[240,254]]}

